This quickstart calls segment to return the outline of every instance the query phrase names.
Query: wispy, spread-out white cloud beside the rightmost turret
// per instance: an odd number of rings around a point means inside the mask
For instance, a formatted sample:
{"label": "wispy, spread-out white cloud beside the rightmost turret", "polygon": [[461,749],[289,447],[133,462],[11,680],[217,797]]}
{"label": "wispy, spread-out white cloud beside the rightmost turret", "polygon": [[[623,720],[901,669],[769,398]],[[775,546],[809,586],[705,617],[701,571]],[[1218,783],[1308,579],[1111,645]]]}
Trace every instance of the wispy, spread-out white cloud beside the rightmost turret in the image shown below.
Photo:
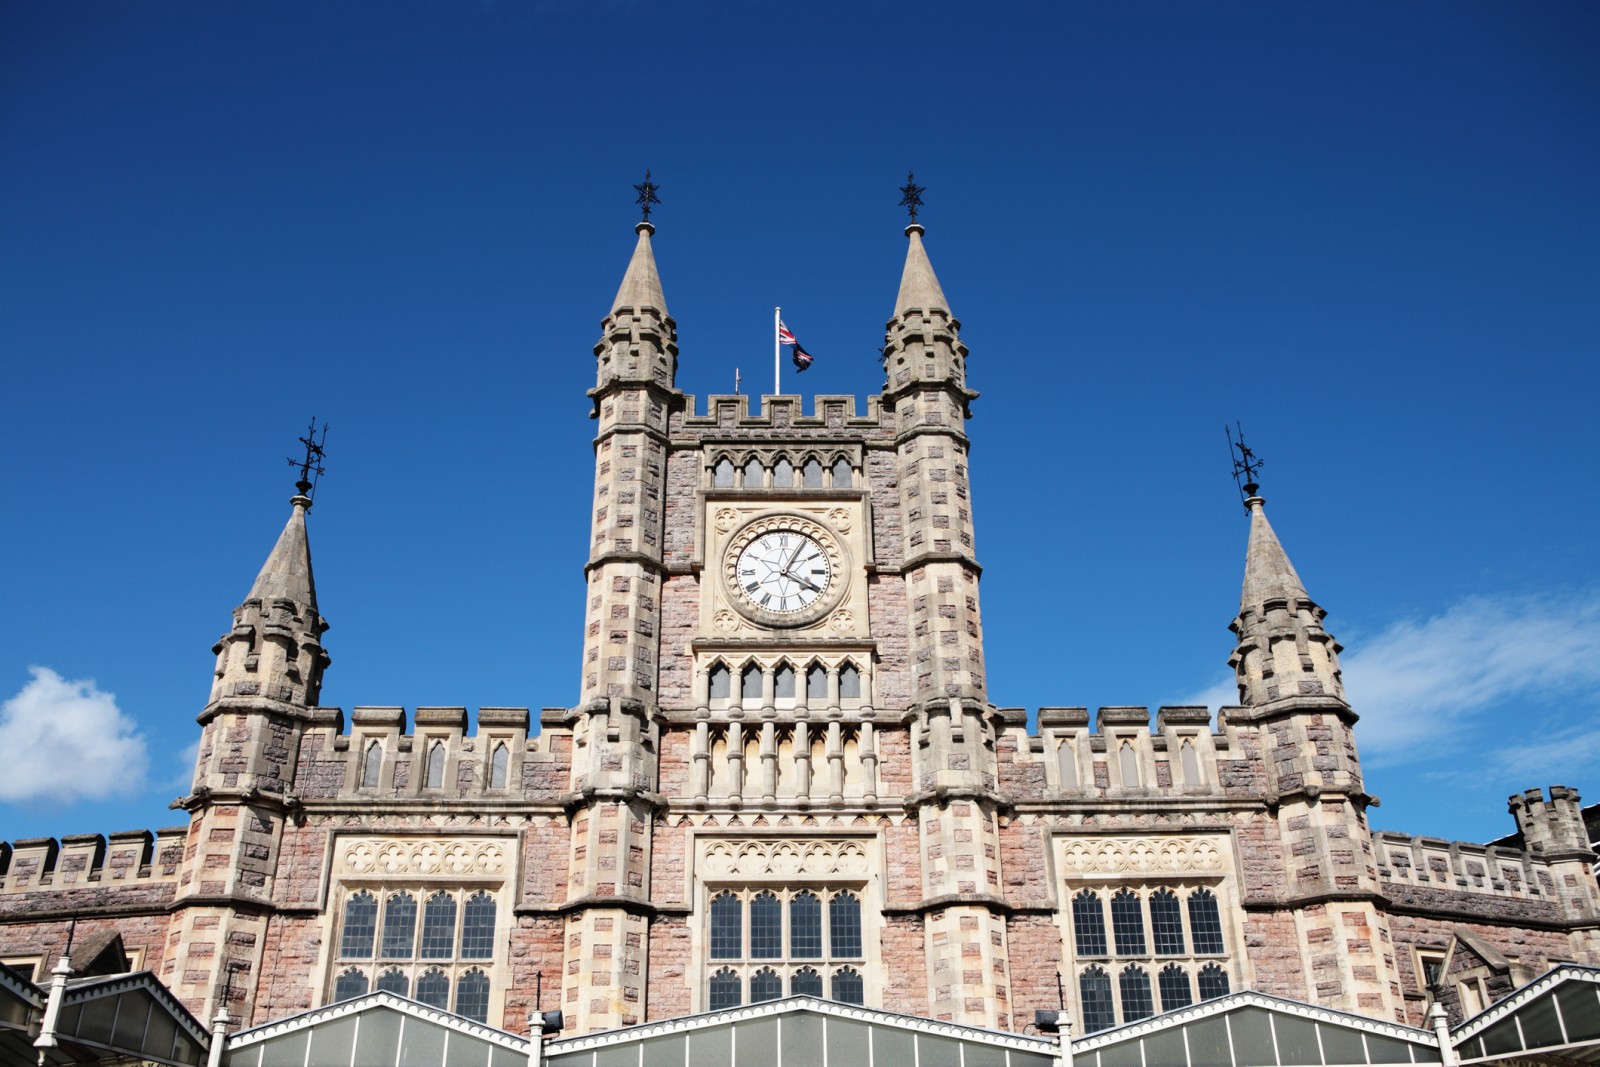
{"label": "wispy, spread-out white cloud beside the rightmost turret", "polygon": [[[1408,763],[1469,744],[1482,715],[1517,713],[1550,699],[1600,709],[1600,593],[1469,597],[1450,609],[1390,622],[1350,641],[1339,657],[1346,696],[1362,715],[1363,761]],[[1232,678],[1190,697],[1218,707],[1237,702]],[[1600,736],[1586,723],[1507,747],[1494,761],[1539,771],[1600,757]]]}

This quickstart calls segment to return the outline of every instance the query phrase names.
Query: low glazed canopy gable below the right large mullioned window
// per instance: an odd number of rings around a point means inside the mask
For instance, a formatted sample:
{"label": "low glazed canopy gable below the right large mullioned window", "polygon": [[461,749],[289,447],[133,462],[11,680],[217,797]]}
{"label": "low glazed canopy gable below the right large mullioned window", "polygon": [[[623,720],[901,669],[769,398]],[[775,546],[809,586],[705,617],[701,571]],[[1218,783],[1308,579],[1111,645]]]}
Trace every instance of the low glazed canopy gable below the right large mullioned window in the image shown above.
{"label": "low glazed canopy gable below the right large mullioned window", "polygon": [[1437,1064],[1432,1033],[1242,990],[1072,1041],[1080,1067]]}

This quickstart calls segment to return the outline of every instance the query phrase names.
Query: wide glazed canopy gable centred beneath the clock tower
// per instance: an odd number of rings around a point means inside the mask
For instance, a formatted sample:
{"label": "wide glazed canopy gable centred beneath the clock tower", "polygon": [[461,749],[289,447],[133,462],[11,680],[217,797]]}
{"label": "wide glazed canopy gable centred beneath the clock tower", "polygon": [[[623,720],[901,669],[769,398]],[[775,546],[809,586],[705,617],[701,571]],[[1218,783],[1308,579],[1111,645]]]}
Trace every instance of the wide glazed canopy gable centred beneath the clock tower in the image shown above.
{"label": "wide glazed canopy gable centred beneath the clock tower", "polygon": [[858,1008],[816,997],[786,997],[549,1041],[544,1046],[544,1062],[550,1067],[613,1064],[621,1059],[619,1049],[630,1045],[642,1045],[643,1059],[650,1064],[776,1064],[781,1046],[786,1064],[877,1062],[922,1067],[1051,1067],[1056,1048],[1048,1038]]}

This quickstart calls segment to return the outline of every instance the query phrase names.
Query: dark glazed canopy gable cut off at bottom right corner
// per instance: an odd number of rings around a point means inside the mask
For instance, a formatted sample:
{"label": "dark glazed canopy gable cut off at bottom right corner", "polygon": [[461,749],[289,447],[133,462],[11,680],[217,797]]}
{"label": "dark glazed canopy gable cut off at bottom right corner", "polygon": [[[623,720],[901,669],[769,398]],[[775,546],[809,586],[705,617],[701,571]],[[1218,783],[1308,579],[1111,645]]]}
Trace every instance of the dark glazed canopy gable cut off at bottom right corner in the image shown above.
{"label": "dark glazed canopy gable cut off at bottom right corner", "polygon": [[1600,1062],[1600,968],[1565,963],[1454,1030],[1462,1064]]}

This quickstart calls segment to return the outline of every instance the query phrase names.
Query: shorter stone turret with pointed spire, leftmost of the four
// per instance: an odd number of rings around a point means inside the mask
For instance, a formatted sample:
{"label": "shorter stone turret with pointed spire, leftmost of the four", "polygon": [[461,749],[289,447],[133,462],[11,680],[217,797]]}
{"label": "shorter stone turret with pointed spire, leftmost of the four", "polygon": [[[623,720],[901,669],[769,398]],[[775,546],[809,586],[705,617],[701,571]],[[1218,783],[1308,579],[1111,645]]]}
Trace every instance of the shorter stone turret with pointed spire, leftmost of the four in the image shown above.
{"label": "shorter stone turret with pointed spire, leftmost of the four", "polygon": [[224,990],[235,1021],[251,1014],[278,848],[299,805],[299,742],[328,665],[304,488],[291,504],[277,545],[234,609],[234,627],[213,648],[194,790],[174,805],[190,822],[163,977],[202,1017],[211,1017]]}

